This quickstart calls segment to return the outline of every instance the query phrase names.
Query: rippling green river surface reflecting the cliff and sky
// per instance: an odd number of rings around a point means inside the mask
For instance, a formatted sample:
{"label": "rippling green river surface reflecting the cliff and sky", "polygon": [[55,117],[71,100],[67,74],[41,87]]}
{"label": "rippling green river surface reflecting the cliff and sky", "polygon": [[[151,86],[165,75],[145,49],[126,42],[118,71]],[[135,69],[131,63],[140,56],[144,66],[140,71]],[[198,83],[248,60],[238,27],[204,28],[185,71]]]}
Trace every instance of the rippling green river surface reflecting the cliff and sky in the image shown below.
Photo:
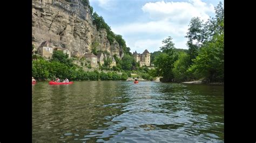
{"label": "rippling green river surface reflecting the cliff and sky", "polygon": [[223,91],[179,83],[38,82],[32,85],[32,141],[223,141]]}

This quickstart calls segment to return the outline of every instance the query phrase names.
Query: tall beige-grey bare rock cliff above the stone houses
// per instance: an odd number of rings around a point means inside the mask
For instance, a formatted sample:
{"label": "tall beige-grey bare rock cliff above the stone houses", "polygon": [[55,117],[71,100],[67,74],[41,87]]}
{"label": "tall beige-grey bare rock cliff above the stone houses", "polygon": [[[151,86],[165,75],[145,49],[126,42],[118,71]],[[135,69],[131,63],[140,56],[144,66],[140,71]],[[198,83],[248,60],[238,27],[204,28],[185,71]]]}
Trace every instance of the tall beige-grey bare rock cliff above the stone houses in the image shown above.
{"label": "tall beige-grey bare rock cliff above the stone houses", "polygon": [[92,24],[88,4],[88,0],[87,4],[82,0],[32,0],[32,44],[38,48],[48,40],[52,47],[84,53],[91,52],[92,42],[98,42],[98,50],[120,57],[118,42],[110,45],[106,30],[97,31]]}

